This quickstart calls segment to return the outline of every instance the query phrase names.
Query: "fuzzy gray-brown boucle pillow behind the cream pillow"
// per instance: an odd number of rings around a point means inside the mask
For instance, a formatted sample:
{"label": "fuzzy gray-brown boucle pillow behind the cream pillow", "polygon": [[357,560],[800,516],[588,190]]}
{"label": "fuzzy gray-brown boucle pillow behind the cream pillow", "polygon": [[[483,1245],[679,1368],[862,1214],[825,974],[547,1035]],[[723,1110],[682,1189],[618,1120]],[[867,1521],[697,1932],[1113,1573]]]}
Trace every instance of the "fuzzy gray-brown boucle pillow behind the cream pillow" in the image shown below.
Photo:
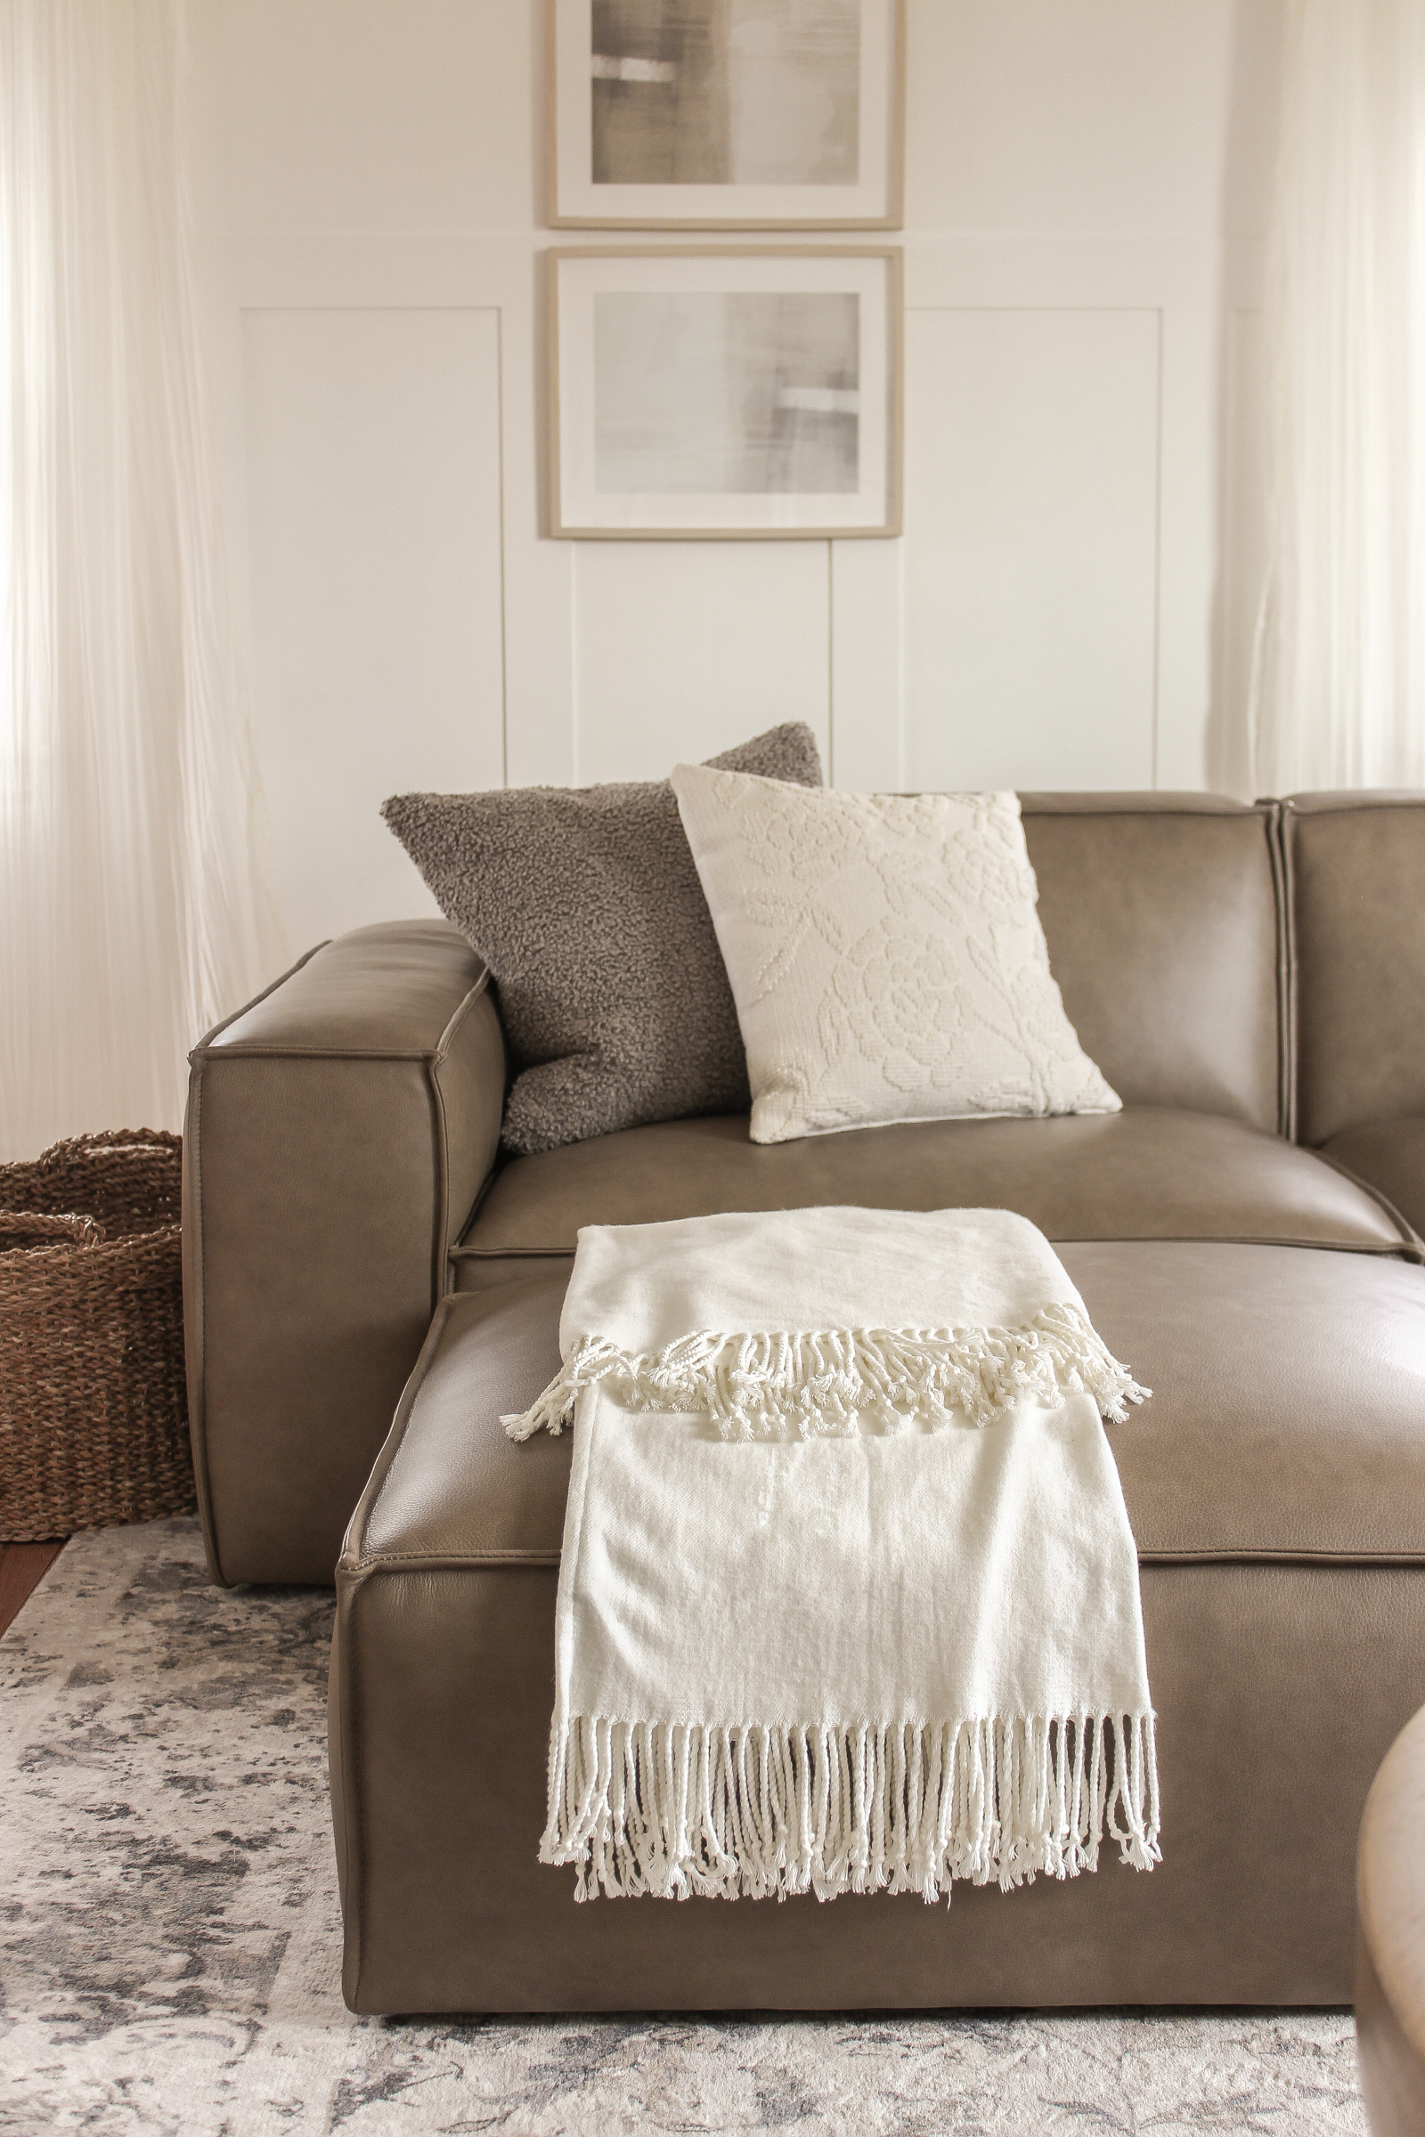
{"label": "fuzzy gray-brown boucle pillow behind the cream pillow", "polygon": [[[709,763],[820,786],[801,722]],[[667,780],[393,795],[380,814],[496,979],[517,1071],[506,1150],[748,1109],[733,989]]]}

